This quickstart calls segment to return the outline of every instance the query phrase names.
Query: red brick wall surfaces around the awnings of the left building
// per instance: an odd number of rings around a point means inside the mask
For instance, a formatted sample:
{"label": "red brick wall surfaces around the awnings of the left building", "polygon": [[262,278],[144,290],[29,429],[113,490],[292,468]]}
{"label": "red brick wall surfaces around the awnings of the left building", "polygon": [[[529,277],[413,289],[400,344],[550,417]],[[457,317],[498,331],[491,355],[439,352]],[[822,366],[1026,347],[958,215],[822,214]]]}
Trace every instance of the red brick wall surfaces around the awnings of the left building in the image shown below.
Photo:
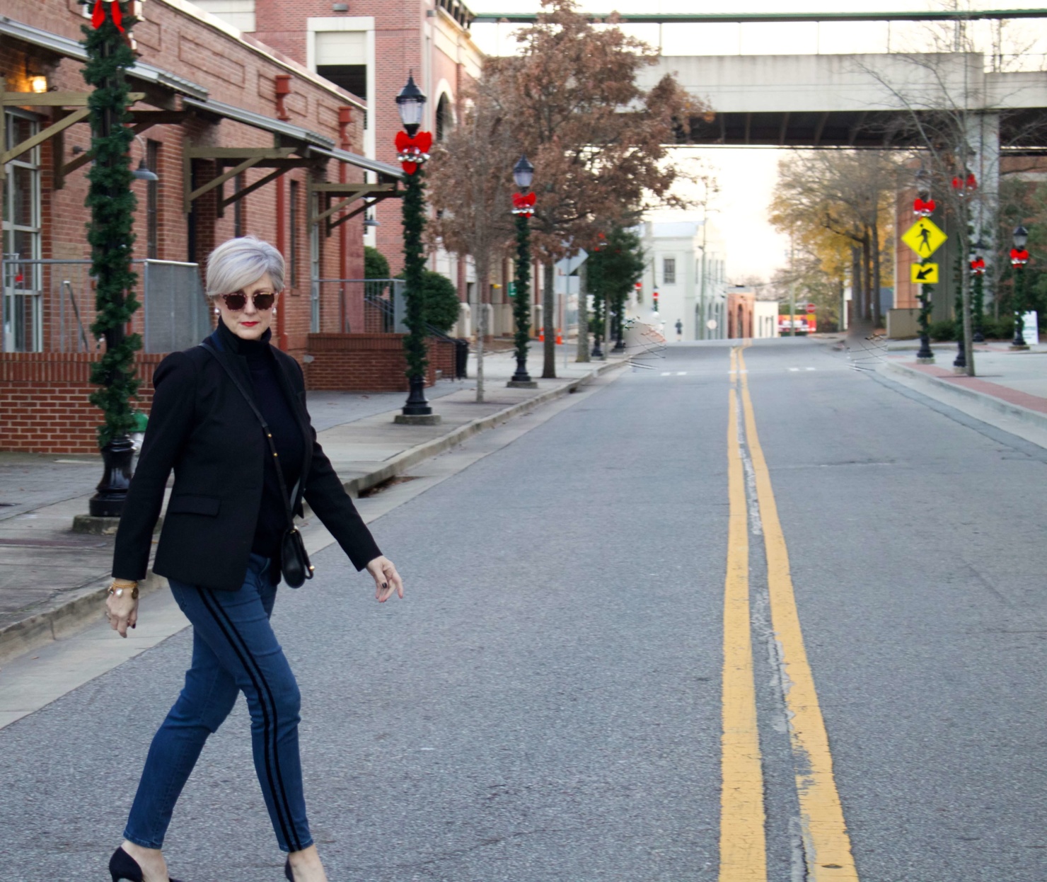
{"label": "red brick wall surfaces around the awnings of the left building", "polygon": [[[2,5],[4,16],[44,28],[73,40],[81,40],[81,27],[87,21],[83,7],[75,0],[5,0]],[[333,85],[324,85],[311,80],[293,60],[284,58],[279,51],[263,47],[247,40],[238,40],[206,18],[192,14],[193,7],[180,8],[181,4],[147,3],[146,21],[134,28],[138,50],[143,61],[165,70],[185,76],[190,81],[205,86],[211,98],[236,107],[245,108],[267,116],[275,115],[275,76],[290,73],[291,94],[285,102],[289,122],[296,126],[319,132],[338,141],[338,108],[353,104],[353,98]],[[330,4],[328,5],[330,10]],[[279,49],[279,47],[277,47]],[[27,91],[26,71],[43,72],[50,84],[61,91],[83,92],[88,90],[82,75],[83,64],[72,59],[57,59],[54,56],[37,50],[31,46],[5,42],[0,51],[0,75],[7,78],[12,90]],[[137,88],[135,85],[133,88]],[[173,106],[177,106],[174,102]],[[157,109],[148,102],[136,109]],[[41,111],[41,126],[46,126],[48,116],[61,113],[58,109],[38,108]],[[352,114],[349,126],[349,140],[359,150],[362,145],[363,113]],[[158,253],[160,260],[197,261],[203,264],[210,248],[233,236],[236,212],[227,206],[218,211],[218,193],[201,197],[194,203],[196,247],[191,247],[190,221],[182,211],[182,155],[183,148],[192,141],[197,147],[245,147],[271,148],[273,136],[263,130],[244,126],[228,119],[219,120],[209,116],[188,116],[180,125],[157,125],[142,134],[143,140],[159,145],[158,169]],[[64,181],[55,177],[55,167],[74,157],[73,149],[86,150],[90,146],[90,132],[86,123],[80,123],[66,130],[61,145],[48,140],[41,147],[41,208],[43,229],[41,255],[46,259],[84,259],[90,256],[85,225],[88,211],[84,205],[87,195],[87,166],[69,174]],[[135,141],[131,147],[131,160],[137,167],[143,156],[144,147]],[[196,185],[205,183],[216,174],[215,163],[195,162]],[[243,185],[248,186],[271,169],[254,168],[244,174]],[[321,175],[332,180],[338,179],[336,163],[329,162]],[[310,330],[310,286],[309,255],[310,239],[305,193],[307,170],[294,169],[283,180],[285,193],[289,196],[289,182],[298,186],[296,205],[297,242],[300,267],[298,284],[290,287],[281,303],[280,323],[286,337],[286,349],[296,357],[305,353],[306,335]],[[348,169],[349,181],[361,181],[363,173],[359,169]],[[232,182],[224,184],[223,195],[228,197],[233,190]],[[134,222],[136,243],[133,256],[147,257],[147,186],[135,182],[133,191],[138,197],[138,207]],[[288,215],[276,212],[276,184],[254,191],[242,202],[243,229],[275,243],[283,238],[285,251],[290,243]],[[399,200],[395,200],[399,202]],[[350,278],[361,278],[363,266],[362,217],[354,218],[346,224],[346,265]],[[399,227],[398,227],[399,228]],[[320,237],[319,274],[321,278],[338,278],[341,273],[340,237]],[[285,253],[285,257],[288,255]],[[45,348],[51,338],[51,301],[45,297],[44,329]],[[320,303],[320,328],[335,331],[339,328],[339,310],[336,301]],[[141,330],[141,313],[133,319],[133,330]]]}

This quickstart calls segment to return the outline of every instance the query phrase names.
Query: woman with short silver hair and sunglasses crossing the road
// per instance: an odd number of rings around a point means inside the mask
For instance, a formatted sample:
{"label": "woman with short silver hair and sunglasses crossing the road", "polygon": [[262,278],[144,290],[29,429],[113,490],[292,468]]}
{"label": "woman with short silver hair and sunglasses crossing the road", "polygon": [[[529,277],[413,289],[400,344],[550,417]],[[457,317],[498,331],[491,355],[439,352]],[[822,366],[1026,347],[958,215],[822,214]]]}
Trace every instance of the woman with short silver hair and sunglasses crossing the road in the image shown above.
{"label": "woman with short silver hair and sunglasses crossing the road", "polygon": [[[284,484],[293,510],[303,498],[384,602],[403,583],[375,545],[331,463],[305,406],[302,369],[269,345],[284,287],[284,260],[252,237],[219,245],[207,261],[207,294],[220,315],[206,343],[169,355],[153,376],[146,439],[128,490],[107,609],[127,637],[138,618],[153,528],[171,470],[153,570],[193,623],[185,687],[146,759],[125,841],[110,860],[114,882],[168,882],[160,848],[175,801],[207,735],[243,691],[251,715],[254,768],[291,882],[326,882],[309,834],[298,760],[298,687],[269,624],[287,529]],[[243,391],[227,370],[239,376]],[[272,440],[244,393],[253,393]],[[174,880],[172,880],[174,882]]]}

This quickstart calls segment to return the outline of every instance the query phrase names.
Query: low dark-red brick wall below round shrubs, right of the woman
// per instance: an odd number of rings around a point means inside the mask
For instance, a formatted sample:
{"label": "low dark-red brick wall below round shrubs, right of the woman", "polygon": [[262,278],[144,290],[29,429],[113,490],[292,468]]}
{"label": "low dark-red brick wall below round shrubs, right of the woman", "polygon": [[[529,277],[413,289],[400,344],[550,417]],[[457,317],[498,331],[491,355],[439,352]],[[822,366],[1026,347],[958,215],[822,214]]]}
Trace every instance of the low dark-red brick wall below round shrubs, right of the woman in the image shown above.
{"label": "low dark-red brick wall below round shrubs, right of the woman", "polygon": [[[305,366],[306,388],[352,392],[406,392],[407,361],[404,334],[310,334]],[[454,345],[429,339],[426,385],[437,381],[437,372],[454,376]]]}

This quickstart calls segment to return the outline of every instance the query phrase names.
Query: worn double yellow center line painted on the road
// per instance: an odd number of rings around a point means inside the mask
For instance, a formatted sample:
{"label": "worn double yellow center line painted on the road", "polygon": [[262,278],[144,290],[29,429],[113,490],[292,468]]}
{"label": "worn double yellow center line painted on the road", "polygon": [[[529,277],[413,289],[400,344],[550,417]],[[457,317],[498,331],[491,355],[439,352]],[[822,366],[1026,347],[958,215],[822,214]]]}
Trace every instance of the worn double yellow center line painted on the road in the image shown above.
{"label": "worn double yellow center line painted on the road", "polygon": [[731,350],[728,420],[727,578],[723,592],[723,734],[721,738],[719,882],[765,882],[766,836],[763,768],[756,714],[749,601],[749,510],[745,498],[739,403],[744,443],[756,479],[767,560],[771,621],[784,670],[784,700],[800,804],[808,882],[857,882],[850,837],[832,776],[825,721],[803,644],[788,549],[778,520],[771,475],[756,432],[742,350]]}

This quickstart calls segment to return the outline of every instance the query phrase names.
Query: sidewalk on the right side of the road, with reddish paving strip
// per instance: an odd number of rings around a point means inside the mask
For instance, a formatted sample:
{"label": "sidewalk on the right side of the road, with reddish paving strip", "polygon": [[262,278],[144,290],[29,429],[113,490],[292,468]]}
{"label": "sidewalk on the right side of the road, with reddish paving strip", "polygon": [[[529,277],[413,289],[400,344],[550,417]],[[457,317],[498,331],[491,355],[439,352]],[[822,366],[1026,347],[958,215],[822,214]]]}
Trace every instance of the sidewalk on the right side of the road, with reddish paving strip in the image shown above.
{"label": "sidewalk on the right side of the road, with reddish paving strip", "polygon": [[934,365],[917,365],[915,348],[889,349],[882,369],[948,403],[986,409],[1047,433],[1047,345],[1015,352],[1006,343],[977,344],[974,377],[953,373],[956,344],[936,344],[932,349]]}

